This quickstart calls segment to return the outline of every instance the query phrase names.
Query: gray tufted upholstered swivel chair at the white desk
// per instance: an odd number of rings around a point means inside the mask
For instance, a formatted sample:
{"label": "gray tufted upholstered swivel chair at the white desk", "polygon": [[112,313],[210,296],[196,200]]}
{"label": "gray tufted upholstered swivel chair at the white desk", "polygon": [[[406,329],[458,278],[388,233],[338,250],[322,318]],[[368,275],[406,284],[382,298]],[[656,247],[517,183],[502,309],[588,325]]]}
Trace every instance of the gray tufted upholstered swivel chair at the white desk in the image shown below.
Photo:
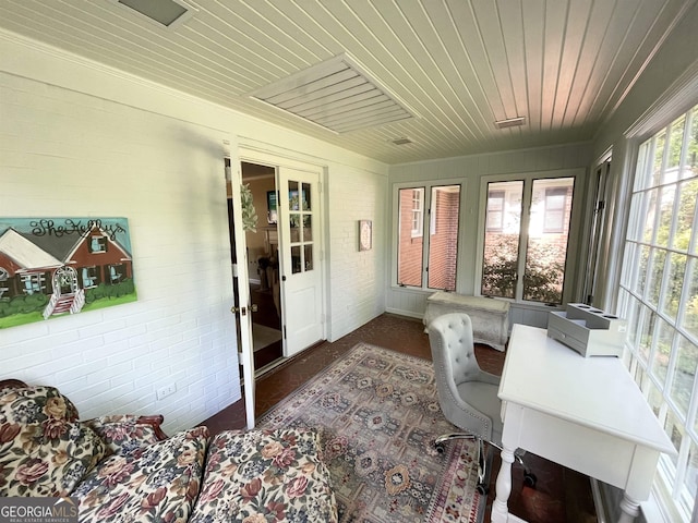
{"label": "gray tufted upholstered swivel chair at the white desk", "polygon": [[[433,319],[429,342],[434,362],[438,404],[446,419],[465,433],[452,433],[435,440],[443,451],[450,439],[478,441],[478,490],[486,494],[484,443],[502,449],[502,402],[497,398],[500,377],[485,373],[476,360],[472,324],[464,313],[450,313]],[[522,461],[517,457],[517,461]],[[534,486],[535,476],[526,471],[525,482]]]}

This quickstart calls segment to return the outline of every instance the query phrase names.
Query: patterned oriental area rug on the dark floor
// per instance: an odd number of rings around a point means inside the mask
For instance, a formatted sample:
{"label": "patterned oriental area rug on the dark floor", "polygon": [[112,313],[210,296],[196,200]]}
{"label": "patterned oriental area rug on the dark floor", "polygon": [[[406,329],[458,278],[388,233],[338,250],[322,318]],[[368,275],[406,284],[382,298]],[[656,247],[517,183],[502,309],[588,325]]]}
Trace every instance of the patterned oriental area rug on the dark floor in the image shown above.
{"label": "patterned oriental area rug on the dark floor", "polygon": [[341,523],[482,521],[474,443],[434,449],[454,426],[426,360],[359,343],[257,425],[320,431]]}

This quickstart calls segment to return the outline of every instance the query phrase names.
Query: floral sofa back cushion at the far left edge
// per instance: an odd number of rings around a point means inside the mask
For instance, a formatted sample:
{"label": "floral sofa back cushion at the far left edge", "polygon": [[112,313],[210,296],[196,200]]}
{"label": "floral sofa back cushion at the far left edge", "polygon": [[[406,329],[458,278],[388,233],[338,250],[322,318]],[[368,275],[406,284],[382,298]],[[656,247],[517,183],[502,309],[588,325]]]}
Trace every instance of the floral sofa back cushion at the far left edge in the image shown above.
{"label": "floral sofa back cushion at the far left edge", "polygon": [[0,496],[68,496],[105,451],[56,388],[0,396]]}

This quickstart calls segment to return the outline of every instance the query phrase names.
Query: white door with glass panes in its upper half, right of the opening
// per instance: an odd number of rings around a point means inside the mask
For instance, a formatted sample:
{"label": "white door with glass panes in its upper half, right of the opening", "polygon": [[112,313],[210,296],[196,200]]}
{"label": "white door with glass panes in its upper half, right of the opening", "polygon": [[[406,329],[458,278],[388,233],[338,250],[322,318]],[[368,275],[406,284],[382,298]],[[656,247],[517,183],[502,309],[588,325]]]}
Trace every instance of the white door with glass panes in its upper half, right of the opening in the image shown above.
{"label": "white door with glass panes in its upper half, right of the opening", "polygon": [[279,252],[284,355],[324,337],[320,172],[279,167]]}

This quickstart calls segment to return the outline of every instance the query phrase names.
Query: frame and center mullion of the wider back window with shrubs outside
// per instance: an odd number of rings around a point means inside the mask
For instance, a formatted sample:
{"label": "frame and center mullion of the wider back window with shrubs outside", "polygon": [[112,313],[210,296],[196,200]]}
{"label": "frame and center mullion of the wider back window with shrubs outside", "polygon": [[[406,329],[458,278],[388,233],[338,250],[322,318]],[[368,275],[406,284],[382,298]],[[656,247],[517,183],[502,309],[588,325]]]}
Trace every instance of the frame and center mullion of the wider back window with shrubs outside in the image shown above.
{"label": "frame and center mullion of the wider back window with shrubs outside", "polygon": [[[477,259],[473,289],[477,296],[482,295],[482,276],[484,268],[484,239],[488,232],[492,232],[486,229],[486,214],[488,214],[488,186],[490,183],[496,182],[514,182],[524,181],[524,194],[521,198],[521,231],[528,229],[530,221],[530,208],[532,199],[532,186],[534,180],[544,179],[557,179],[557,178],[573,178],[574,191],[571,195],[571,212],[569,217],[569,232],[567,241],[567,257],[565,259],[565,281],[563,283],[562,305],[573,300],[574,293],[578,287],[579,275],[577,273],[577,264],[579,254],[581,253],[581,245],[569,242],[569,239],[575,232],[581,231],[581,210],[583,208],[583,198],[586,194],[586,169],[555,169],[549,171],[528,171],[528,172],[513,172],[506,174],[489,174],[480,178],[480,196],[479,196],[479,212],[478,212],[478,242],[477,242]],[[534,302],[530,300],[524,300],[524,269],[526,265],[526,246],[527,243],[524,240],[525,233],[519,235],[519,255],[518,259],[518,278],[516,283],[515,297],[501,297],[497,300],[507,300],[512,303],[525,304],[531,307],[545,307],[550,308],[550,305],[542,302]]]}

